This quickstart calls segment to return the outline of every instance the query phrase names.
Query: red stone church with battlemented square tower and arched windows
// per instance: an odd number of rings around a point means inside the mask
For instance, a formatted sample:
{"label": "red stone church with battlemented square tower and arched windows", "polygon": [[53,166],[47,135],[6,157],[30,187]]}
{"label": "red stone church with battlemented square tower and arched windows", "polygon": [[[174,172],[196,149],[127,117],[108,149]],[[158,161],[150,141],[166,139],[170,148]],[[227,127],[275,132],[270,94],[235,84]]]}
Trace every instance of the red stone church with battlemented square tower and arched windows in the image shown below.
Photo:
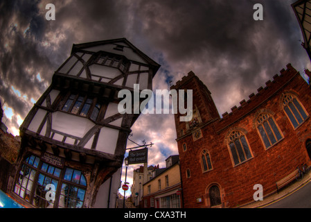
{"label": "red stone church with battlemented square tower and arched windows", "polygon": [[193,90],[193,119],[175,114],[184,207],[238,207],[254,201],[254,185],[265,197],[311,165],[311,89],[292,65],[222,118],[192,71],[171,89]]}

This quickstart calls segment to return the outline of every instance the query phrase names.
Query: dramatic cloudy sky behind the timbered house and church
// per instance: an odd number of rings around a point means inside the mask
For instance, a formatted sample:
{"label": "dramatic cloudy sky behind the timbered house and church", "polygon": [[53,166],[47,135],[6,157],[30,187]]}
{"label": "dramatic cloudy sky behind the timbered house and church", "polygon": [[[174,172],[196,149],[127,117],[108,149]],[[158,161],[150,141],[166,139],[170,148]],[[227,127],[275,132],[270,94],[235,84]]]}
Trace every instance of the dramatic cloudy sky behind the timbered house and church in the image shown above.
{"label": "dramatic cloudy sky behind the timbered house and church", "polygon": [[[291,3],[295,0],[6,0],[0,3],[0,99],[8,131],[19,125],[69,56],[72,44],[126,37],[161,65],[154,89],[189,71],[211,91],[220,115],[292,63],[310,60]],[[55,5],[55,21],[45,19]],[[263,21],[255,21],[255,3]],[[149,164],[178,154],[172,114],[141,115],[131,139],[154,143]],[[128,146],[132,146],[129,143]],[[128,178],[132,183],[131,165]]]}

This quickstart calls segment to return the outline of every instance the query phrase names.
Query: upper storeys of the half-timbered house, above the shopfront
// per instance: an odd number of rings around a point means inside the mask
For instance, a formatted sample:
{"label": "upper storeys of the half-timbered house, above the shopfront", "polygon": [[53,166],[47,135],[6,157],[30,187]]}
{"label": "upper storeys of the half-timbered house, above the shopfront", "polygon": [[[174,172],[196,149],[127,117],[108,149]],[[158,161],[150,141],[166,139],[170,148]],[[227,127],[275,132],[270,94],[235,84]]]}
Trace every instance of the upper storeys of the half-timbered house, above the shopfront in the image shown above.
{"label": "upper storeys of the half-timbered house, above the shopfront", "polygon": [[85,153],[86,162],[122,163],[140,113],[119,112],[118,92],[134,92],[134,84],[152,89],[159,67],[125,38],[73,44],[71,56],[21,124],[22,138],[70,160]]}

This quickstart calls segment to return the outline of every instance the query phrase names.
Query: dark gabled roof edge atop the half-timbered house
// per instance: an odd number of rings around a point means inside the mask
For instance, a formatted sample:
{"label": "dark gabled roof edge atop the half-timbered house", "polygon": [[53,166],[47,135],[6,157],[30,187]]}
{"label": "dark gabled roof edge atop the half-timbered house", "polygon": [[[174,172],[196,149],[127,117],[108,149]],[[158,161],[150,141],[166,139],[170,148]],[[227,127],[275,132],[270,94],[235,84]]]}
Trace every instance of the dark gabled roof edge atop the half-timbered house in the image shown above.
{"label": "dark gabled roof edge atop the half-timbered house", "polygon": [[125,37],[113,40],[102,40],[97,42],[86,42],[81,44],[73,44],[71,49],[71,54],[75,53],[78,50],[87,49],[94,46],[100,46],[105,44],[116,44],[121,46],[130,47],[134,53],[136,53],[141,59],[143,59],[148,65],[152,66],[153,76],[157,73],[160,65],[157,62],[154,62],[149,56],[145,55],[142,51],[136,48],[130,41],[128,41]]}

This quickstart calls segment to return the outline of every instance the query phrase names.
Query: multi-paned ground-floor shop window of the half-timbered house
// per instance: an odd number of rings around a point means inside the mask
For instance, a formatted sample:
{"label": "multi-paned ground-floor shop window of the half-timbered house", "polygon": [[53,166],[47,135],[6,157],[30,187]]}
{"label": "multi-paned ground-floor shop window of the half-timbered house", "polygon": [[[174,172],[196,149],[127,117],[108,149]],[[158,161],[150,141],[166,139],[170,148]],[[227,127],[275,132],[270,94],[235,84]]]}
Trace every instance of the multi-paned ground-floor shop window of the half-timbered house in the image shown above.
{"label": "multi-paned ground-floor shop window of the half-timbered house", "polygon": [[21,165],[14,192],[35,207],[82,208],[86,189],[82,171],[53,167],[30,155]]}

